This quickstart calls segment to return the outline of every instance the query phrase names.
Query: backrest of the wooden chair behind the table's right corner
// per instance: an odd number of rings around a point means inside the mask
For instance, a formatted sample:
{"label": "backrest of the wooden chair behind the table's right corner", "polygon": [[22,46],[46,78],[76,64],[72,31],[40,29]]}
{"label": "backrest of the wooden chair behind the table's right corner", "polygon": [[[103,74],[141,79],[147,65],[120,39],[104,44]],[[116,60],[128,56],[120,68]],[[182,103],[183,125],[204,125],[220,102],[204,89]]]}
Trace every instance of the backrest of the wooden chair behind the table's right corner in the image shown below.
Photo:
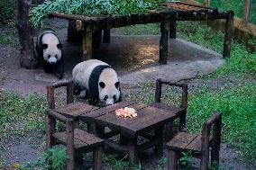
{"label": "backrest of the wooden chair behind the table's right corner", "polygon": [[156,81],[156,90],[155,90],[155,102],[160,103],[161,98],[161,87],[162,85],[170,85],[170,86],[178,86],[182,88],[182,97],[180,107],[187,108],[187,85],[186,84],[178,84],[173,83],[167,80],[163,80],[161,78]]}

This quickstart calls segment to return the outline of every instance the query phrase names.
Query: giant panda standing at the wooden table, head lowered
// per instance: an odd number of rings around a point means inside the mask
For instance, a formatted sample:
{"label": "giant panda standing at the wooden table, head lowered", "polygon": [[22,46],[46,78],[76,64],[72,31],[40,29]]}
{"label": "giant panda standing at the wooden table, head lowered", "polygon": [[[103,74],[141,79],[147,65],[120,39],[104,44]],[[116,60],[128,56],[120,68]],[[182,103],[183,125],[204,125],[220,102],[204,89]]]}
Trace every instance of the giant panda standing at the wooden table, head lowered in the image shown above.
{"label": "giant panda standing at the wooden table, head lowered", "polygon": [[103,61],[89,59],[72,70],[74,94],[86,90],[88,103],[111,105],[122,100],[120,82],[114,69]]}

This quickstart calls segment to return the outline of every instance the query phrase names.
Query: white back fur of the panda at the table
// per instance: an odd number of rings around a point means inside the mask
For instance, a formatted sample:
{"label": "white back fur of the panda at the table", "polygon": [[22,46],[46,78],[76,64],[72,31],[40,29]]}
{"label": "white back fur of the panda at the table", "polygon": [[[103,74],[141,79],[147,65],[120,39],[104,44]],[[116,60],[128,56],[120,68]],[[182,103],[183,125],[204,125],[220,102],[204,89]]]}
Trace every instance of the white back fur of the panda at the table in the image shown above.
{"label": "white back fur of the panda at the table", "polygon": [[108,66],[108,64],[98,59],[89,59],[87,61],[83,61],[79,63],[76,67],[73,68],[73,71],[72,71],[73,80],[79,83],[80,85],[85,85],[85,87],[88,89],[90,75],[93,69],[99,65]]}

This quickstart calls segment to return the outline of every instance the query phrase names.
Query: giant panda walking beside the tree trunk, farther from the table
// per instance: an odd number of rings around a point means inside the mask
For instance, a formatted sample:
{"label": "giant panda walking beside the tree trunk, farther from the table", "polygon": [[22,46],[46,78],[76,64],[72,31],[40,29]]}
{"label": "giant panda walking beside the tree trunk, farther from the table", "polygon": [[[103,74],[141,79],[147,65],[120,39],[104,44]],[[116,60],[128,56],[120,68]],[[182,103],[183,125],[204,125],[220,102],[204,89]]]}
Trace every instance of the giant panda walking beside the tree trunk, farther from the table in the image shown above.
{"label": "giant panda walking beside the tree trunk, farther from the table", "polygon": [[61,79],[64,75],[62,44],[56,32],[50,28],[39,32],[36,43],[37,55],[46,73],[56,73]]}

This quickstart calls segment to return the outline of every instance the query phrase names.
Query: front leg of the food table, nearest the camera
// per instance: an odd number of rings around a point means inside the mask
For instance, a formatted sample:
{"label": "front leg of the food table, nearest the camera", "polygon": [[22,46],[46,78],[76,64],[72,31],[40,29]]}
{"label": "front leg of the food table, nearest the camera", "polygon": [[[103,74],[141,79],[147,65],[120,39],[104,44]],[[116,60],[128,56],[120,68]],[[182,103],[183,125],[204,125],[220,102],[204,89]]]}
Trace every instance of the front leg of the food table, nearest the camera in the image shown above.
{"label": "front leg of the food table, nearest the camera", "polygon": [[139,161],[138,148],[137,148],[137,136],[133,139],[128,139],[128,149],[129,149],[129,160],[130,163],[135,165]]}

